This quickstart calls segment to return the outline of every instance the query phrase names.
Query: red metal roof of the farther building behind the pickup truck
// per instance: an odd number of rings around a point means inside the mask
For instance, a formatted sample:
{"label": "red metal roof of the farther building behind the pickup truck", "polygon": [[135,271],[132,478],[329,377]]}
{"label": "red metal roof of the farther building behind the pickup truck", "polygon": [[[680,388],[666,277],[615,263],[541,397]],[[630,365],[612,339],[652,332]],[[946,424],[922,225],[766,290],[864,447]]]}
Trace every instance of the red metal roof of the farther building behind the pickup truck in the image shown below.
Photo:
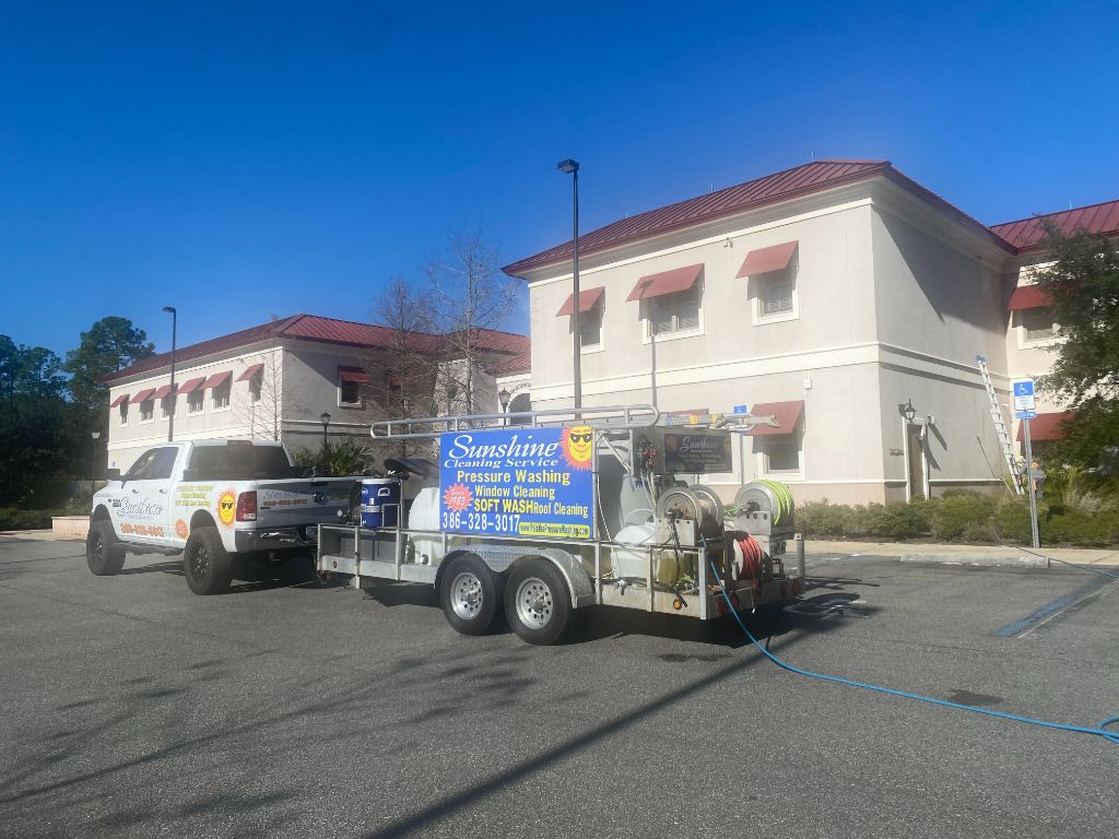
{"label": "red metal roof of the farther building behind the pickup truck", "polygon": [[[499,332],[492,329],[479,329],[477,330],[477,336],[476,346],[490,352],[515,355],[528,349],[528,338],[521,334]],[[269,323],[262,323],[261,326],[244,329],[239,332],[194,343],[189,347],[180,347],[176,353],[176,361],[184,364],[273,338],[295,338],[305,341],[321,341],[323,343],[338,343],[349,347],[384,349],[393,347],[396,343],[397,333],[396,330],[370,323],[321,318],[314,314],[295,314],[291,318],[270,321]],[[440,352],[446,349],[446,340],[443,336],[408,332],[407,341],[412,349],[421,352]],[[161,367],[169,366],[170,362],[171,353],[162,352],[158,356],[145,358],[142,361],[137,361],[123,370],[116,370],[107,376],[103,376],[98,379],[98,384],[106,384],[124,376],[135,376],[149,370],[158,370]],[[186,392],[179,389],[179,393]]]}

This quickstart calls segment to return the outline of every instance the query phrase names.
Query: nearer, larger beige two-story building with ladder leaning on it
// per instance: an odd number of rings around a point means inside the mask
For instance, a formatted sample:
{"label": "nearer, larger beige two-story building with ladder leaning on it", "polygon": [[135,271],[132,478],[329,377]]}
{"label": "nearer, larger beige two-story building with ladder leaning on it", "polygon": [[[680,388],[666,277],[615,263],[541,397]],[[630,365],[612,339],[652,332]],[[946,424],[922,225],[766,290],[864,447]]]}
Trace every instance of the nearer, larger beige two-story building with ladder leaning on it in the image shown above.
{"label": "nearer, larger beige two-story building with ladder leaning on it", "polygon": [[[885,161],[818,161],[617,221],[580,236],[584,405],[778,416],[713,481],[727,494],[753,478],[844,502],[997,488],[976,356],[1007,403],[1059,340],[1010,317],[1036,262],[1022,244]],[[571,243],[506,271],[528,285],[534,407],[571,405]]]}

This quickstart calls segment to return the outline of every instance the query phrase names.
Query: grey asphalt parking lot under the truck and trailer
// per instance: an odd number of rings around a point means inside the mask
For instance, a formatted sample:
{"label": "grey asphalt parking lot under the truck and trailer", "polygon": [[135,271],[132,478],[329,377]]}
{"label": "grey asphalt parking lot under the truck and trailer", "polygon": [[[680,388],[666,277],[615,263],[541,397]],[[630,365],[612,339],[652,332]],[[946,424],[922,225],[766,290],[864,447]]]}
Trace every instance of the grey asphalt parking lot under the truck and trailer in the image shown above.
{"label": "grey asphalt parking lot under the truck and trailer", "polygon": [[[591,610],[455,634],[294,566],[222,596],[0,538],[4,837],[1113,837],[1119,745],[786,672],[733,624]],[[814,556],[800,667],[1094,726],[1119,584]]]}

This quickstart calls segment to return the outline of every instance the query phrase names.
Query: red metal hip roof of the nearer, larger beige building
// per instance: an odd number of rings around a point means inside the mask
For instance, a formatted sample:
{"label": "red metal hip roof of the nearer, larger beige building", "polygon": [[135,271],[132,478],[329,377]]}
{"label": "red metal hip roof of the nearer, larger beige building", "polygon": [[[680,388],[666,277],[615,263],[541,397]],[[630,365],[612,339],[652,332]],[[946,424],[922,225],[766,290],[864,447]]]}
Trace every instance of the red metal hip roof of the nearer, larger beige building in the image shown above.
{"label": "red metal hip roof of the nearer, larger beige building", "polygon": [[[990,237],[1000,247],[1013,251],[1009,245],[991,234],[985,225],[902,175],[890,164],[888,160],[817,160],[600,227],[579,237],[579,252],[582,256],[589,256],[624,243],[692,227],[792,198],[822,192],[847,183],[868,180],[876,176],[888,178],[903,189]],[[572,243],[566,242],[534,256],[519,260],[511,265],[506,265],[502,271],[510,276],[521,276],[524,272],[532,268],[554,265],[570,261],[571,257]]]}

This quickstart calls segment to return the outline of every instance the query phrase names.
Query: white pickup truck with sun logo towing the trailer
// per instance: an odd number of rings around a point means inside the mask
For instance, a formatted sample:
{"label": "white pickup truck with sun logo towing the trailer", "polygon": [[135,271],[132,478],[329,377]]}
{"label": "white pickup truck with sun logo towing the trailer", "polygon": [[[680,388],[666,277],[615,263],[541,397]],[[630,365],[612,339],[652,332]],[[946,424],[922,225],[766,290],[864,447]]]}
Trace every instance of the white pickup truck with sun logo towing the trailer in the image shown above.
{"label": "white pickup truck with sun logo towing the trailer", "polygon": [[124,553],[182,554],[195,594],[226,591],[234,556],[285,559],[313,552],[320,522],[351,509],[355,478],[299,478],[281,443],[196,440],[141,454],[93,497],[86,559],[116,574]]}

